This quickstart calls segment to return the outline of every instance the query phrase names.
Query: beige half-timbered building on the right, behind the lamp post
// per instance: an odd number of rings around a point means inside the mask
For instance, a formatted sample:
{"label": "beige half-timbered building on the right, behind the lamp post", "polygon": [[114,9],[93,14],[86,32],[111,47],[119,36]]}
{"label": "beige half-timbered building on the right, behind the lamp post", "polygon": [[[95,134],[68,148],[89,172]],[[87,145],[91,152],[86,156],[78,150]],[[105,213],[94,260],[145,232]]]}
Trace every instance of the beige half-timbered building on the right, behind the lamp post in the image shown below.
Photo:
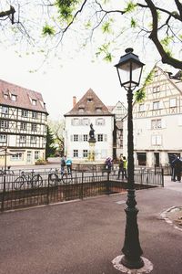
{"label": "beige half-timbered building on the right, behind the lamp post", "polygon": [[[168,164],[174,153],[182,156],[181,71],[172,76],[155,67],[152,77],[146,99],[133,108],[135,165],[148,167]],[[125,153],[126,134],[124,131]]]}

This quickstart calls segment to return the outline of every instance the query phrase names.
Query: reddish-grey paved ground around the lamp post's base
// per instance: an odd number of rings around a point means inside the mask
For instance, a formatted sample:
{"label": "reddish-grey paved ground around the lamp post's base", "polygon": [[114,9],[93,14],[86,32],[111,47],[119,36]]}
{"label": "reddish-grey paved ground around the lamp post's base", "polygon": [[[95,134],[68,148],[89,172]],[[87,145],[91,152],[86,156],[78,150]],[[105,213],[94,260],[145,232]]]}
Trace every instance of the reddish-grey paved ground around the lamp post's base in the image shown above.
{"label": "reddish-grey paved ground around the lamp post's base", "polygon": [[[182,205],[182,184],[136,191],[143,257],[152,274],[182,273],[182,231],[161,213]],[[0,274],[119,274],[111,261],[121,254],[126,194],[100,196],[0,215]]]}

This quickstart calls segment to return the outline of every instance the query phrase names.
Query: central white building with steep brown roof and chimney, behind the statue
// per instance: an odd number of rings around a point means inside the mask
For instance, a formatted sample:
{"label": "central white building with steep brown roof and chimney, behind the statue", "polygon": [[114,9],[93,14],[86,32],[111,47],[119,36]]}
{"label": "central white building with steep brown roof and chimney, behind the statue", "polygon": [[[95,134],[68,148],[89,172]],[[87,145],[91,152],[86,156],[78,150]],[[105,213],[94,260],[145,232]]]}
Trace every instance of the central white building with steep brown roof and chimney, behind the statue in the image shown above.
{"label": "central white building with steep brown roof and chimney, behind the statue", "polygon": [[73,109],[65,114],[65,153],[74,162],[89,162],[90,124],[95,130],[95,162],[104,162],[113,156],[114,114],[89,89],[81,100],[74,97]]}

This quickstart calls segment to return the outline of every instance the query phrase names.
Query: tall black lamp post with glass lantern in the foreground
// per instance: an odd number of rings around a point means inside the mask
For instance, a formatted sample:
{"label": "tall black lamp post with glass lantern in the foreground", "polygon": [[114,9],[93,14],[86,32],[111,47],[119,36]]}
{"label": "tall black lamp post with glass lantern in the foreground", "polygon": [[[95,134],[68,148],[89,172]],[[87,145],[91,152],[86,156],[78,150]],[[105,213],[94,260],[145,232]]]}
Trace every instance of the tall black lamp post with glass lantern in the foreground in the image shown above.
{"label": "tall black lamp post with glass lantern in the foreground", "polygon": [[116,70],[121,87],[127,90],[127,156],[128,156],[128,189],[126,211],[126,231],[125,242],[122,252],[124,256],[121,264],[128,269],[140,269],[144,266],[143,254],[139,243],[139,233],[137,227],[137,213],[135,182],[134,182],[134,143],[133,143],[133,90],[139,85],[142,68],[144,64],[133,53],[133,48],[126,48],[126,54],[122,56],[116,64]]}

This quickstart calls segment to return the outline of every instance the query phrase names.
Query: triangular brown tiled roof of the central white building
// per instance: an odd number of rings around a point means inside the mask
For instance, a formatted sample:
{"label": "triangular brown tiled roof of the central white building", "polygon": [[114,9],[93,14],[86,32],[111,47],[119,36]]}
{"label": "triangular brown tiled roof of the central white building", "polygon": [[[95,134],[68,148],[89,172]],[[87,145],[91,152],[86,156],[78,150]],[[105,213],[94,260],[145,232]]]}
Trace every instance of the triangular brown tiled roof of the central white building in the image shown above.
{"label": "triangular brown tiled roof of the central white building", "polygon": [[108,111],[106,105],[97,97],[96,93],[89,89],[65,116],[114,116],[114,114]]}

